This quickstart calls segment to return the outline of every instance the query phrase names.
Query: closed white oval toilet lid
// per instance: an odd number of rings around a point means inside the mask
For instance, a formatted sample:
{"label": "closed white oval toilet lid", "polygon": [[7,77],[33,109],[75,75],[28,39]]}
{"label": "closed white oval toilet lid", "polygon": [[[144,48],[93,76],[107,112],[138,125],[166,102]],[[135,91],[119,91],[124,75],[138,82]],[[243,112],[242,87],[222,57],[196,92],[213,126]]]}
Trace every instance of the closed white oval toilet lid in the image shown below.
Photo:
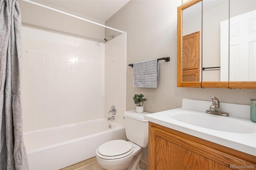
{"label": "closed white oval toilet lid", "polygon": [[132,145],[125,140],[112,140],[102,144],[98,148],[98,153],[103,156],[117,156],[129,152]]}

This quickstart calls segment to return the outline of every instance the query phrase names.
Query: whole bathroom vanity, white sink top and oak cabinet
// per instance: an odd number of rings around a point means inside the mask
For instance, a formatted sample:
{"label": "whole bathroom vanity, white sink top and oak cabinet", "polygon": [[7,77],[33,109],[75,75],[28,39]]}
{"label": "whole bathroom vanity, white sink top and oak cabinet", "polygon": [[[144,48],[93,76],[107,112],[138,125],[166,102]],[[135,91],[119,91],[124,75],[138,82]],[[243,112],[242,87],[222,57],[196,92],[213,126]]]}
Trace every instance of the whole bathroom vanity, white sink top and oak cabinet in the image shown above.
{"label": "whole bathroom vanity, white sink top and oak cabinet", "polygon": [[230,113],[224,117],[205,113],[211,104],[183,99],[182,108],[144,116],[149,121],[150,170],[256,169],[250,106],[222,103]]}

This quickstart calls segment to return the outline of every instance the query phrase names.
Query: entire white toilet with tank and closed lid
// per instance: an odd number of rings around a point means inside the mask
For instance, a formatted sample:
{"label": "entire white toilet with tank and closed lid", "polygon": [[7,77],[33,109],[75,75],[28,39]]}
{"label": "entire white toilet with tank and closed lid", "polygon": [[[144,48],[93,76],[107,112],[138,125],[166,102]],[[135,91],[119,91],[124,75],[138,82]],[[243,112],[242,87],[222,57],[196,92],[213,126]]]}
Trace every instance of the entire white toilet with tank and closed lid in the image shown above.
{"label": "entire white toilet with tank and closed lid", "polygon": [[96,158],[106,170],[140,170],[142,148],[148,147],[148,121],[144,115],[149,113],[124,113],[126,140],[111,140],[99,146]]}

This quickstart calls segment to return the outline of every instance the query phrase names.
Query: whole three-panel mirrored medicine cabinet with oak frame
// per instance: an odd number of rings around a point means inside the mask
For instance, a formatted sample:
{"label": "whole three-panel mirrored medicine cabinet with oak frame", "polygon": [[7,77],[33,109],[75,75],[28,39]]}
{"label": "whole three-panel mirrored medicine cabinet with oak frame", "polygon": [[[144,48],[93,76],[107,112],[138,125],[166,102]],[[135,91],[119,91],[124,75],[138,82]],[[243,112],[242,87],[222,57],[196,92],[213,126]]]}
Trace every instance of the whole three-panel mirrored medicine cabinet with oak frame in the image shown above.
{"label": "whole three-panel mirrored medicine cabinet with oak frame", "polygon": [[256,89],[256,0],[190,0],[177,26],[177,87]]}

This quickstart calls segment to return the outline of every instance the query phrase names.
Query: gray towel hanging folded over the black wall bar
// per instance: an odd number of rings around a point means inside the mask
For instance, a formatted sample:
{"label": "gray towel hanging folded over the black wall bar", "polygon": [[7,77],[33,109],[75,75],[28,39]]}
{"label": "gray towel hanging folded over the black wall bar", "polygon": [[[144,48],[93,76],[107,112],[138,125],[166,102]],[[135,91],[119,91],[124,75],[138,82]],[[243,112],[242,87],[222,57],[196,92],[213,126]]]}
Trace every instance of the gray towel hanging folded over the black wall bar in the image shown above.
{"label": "gray towel hanging folded over the black wall bar", "polygon": [[133,64],[133,87],[157,87],[158,85],[157,59]]}

